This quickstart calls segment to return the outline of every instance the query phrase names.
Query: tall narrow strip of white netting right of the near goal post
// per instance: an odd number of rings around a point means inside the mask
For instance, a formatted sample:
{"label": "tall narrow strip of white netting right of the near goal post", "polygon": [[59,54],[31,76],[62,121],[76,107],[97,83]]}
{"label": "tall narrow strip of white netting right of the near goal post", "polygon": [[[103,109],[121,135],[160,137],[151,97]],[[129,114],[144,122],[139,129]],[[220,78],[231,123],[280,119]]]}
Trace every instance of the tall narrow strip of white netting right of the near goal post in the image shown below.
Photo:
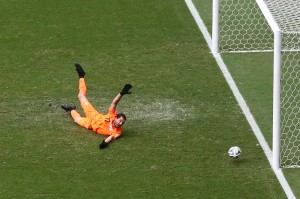
{"label": "tall narrow strip of white netting right of the near goal post", "polygon": [[283,33],[281,64],[282,167],[300,166],[300,34]]}

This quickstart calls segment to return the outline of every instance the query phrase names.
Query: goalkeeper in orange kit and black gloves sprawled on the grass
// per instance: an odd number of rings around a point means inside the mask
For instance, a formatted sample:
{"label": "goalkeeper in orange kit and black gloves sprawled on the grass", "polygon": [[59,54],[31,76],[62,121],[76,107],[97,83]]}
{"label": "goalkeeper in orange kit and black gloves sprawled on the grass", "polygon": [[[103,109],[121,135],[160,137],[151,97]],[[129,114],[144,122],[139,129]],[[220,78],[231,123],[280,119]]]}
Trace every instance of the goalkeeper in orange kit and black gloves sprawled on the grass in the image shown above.
{"label": "goalkeeper in orange kit and black gloves sprawled on the grass", "polygon": [[97,134],[108,136],[99,145],[100,149],[104,149],[108,143],[117,139],[122,134],[122,125],[126,121],[126,116],[123,113],[117,113],[117,105],[125,94],[131,94],[129,91],[132,86],[126,84],[122,91],[113,99],[106,115],[98,112],[86,98],[87,87],[85,84],[85,72],[79,63],[75,64],[76,71],[79,75],[79,93],[78,99],[86,117],[82,117],[75,109],[75,106],[61,106],[65,111],[70,112],[74,121],[89,130],[93,130]]}

